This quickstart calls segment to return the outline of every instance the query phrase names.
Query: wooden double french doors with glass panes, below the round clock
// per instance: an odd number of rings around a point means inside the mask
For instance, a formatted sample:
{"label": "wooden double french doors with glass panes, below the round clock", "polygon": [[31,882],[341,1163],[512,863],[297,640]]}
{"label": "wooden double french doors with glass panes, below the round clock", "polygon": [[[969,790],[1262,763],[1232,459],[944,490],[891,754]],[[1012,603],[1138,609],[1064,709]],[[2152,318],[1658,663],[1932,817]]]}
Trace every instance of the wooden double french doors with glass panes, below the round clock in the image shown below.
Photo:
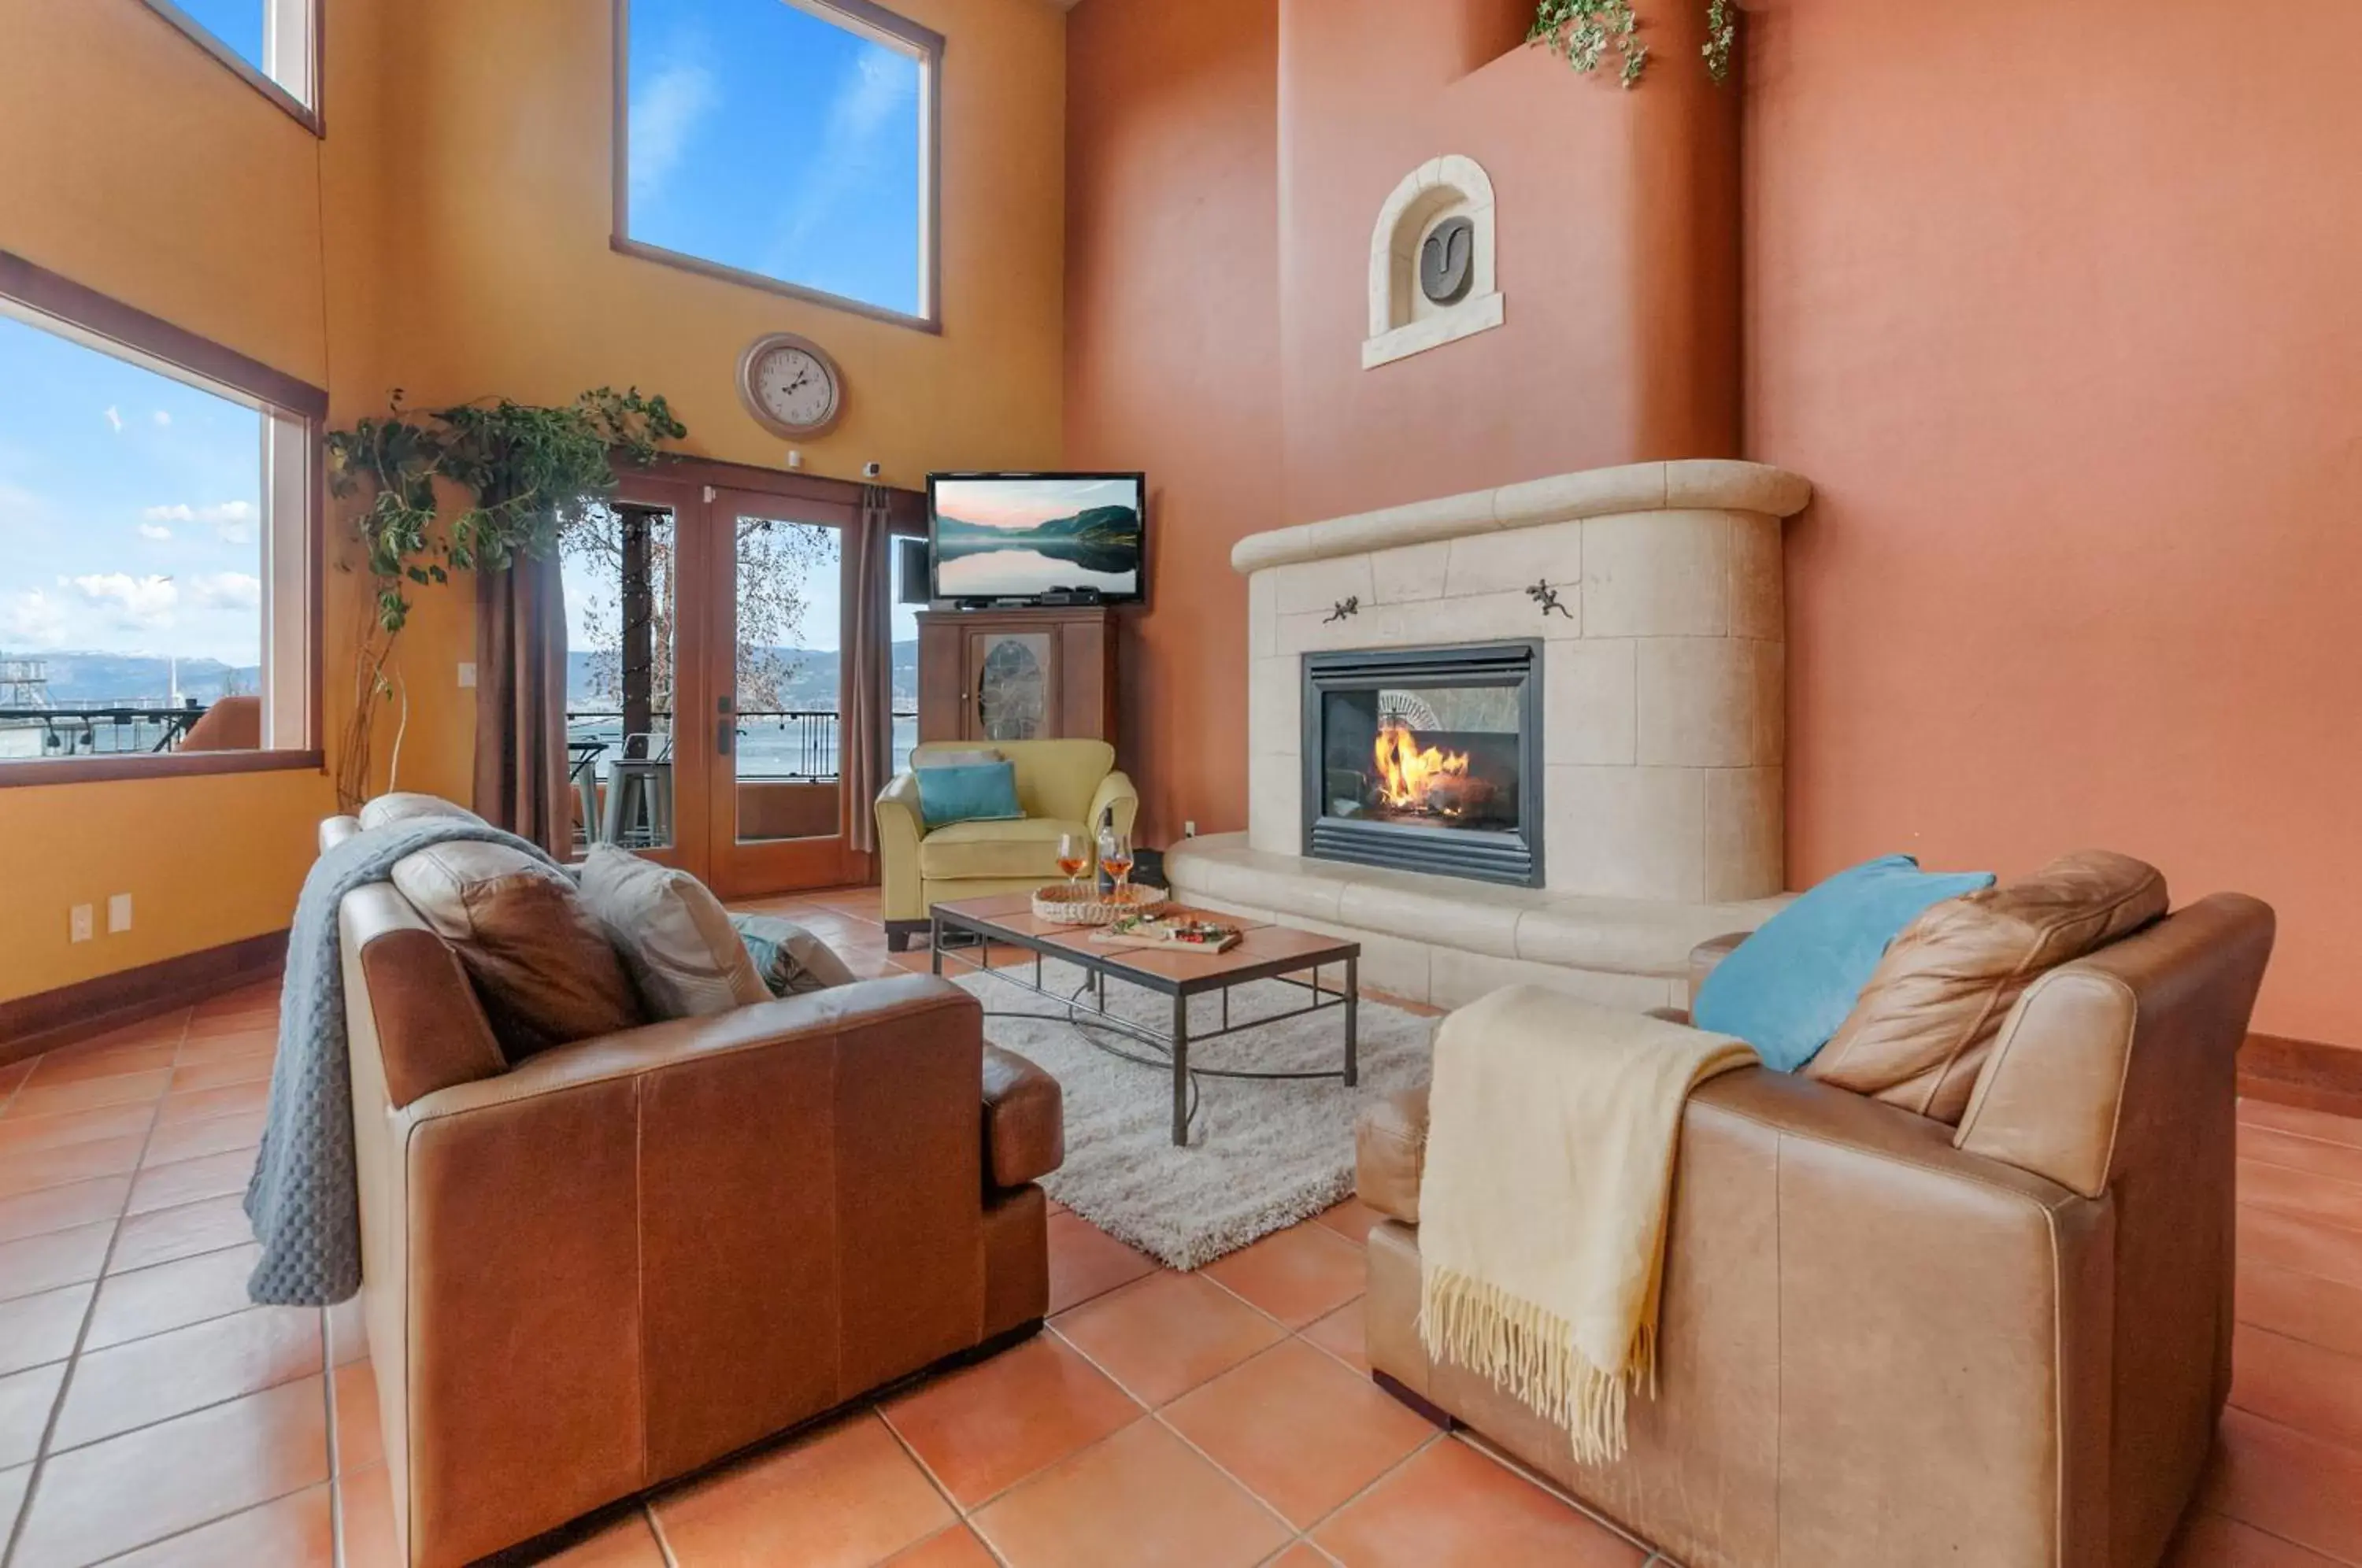
{"label": "wooden double french doors with glass panes, below the round clock", "polygon": [[576,845],[619,843],[720,897],[864,883],[843,723],[857,491],[720,475],[628,475],[569,536]]}

